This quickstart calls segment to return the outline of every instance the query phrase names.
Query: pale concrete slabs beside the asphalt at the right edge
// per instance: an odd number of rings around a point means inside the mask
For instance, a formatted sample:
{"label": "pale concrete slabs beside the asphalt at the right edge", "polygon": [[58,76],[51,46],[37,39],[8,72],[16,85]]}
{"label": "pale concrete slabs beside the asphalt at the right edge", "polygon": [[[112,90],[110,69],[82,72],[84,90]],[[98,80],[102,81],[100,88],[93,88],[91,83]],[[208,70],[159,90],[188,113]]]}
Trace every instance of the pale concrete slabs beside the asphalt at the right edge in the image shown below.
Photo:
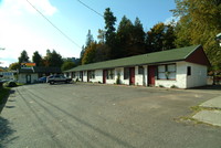
{"label": "pale concrete slabs beside the asphalt at the right edge", "polygon": [[221,96],[202,103],[200,107],[204,109],[197,113],[194,119],[221,127]]}

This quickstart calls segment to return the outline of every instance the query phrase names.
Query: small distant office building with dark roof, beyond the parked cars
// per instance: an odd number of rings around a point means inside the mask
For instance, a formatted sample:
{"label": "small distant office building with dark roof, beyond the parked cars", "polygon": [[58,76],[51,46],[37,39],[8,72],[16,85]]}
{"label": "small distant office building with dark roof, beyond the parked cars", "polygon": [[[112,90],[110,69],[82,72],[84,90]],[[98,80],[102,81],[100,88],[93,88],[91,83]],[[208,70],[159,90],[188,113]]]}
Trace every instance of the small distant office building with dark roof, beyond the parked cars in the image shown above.
{"label": "small distant office building with dark roof, beyond the parked cars", "polygon": [[18,82],[24,84],[36,83],[38,80],[42,76],[60,73],[60,67],[21,67],[18,70]]}

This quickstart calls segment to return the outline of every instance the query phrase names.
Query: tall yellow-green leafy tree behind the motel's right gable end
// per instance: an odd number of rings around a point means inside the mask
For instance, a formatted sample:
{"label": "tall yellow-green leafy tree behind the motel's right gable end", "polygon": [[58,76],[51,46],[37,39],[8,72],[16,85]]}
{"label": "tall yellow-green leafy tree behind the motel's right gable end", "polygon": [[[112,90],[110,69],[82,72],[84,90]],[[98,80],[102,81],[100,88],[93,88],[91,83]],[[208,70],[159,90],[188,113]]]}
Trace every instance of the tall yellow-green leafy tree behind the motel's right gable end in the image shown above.
{"label": "tall yellow-green leafy tree behind the motel's right gable end", "polygon": [[177,0],[172,12],[180,18],[176,29],[176,45],[202,44],[212,65],[219,65],[221,47],[214,38],[221,32],[221,1]]}

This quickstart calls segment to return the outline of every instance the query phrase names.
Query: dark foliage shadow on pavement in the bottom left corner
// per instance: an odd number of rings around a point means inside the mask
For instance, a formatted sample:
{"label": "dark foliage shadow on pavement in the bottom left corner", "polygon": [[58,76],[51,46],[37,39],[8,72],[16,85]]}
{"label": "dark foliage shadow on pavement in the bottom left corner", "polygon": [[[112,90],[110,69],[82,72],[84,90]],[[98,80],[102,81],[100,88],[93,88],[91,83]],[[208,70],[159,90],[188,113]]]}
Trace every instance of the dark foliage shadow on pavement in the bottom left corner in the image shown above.
{"label": "dark foliage shadow on pavement in the bottom left corner", "polygon": [[9,120],[0,116],[0,148],[4,148],[6,144],[17,139],[17,137],[9,137],[14,131],[15,130],[11,129]]}

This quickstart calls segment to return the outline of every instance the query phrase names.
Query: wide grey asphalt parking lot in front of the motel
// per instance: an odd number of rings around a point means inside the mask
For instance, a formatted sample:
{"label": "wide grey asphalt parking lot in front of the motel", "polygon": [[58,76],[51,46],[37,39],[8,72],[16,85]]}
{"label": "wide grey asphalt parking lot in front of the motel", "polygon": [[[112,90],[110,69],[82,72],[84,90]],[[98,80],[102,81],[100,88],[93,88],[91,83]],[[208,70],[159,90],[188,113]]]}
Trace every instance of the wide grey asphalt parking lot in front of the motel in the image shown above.
{"label": "wide grey asphalt parking lot in front of the motel", "polygon": [[221,148],[221,128],[176,121],[210,91],[93,84],[14,88],[0,116],[0,147]]}

